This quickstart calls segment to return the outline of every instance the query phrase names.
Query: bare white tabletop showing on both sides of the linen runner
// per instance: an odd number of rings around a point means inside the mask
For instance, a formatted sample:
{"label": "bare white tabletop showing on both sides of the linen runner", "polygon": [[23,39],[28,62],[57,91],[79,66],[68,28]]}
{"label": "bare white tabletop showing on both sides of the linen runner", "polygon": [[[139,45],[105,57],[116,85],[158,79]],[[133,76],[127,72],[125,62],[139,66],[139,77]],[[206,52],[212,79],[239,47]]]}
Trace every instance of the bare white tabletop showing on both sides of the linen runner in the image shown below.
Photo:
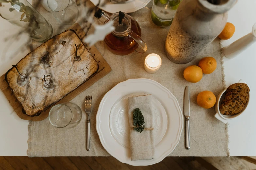
{"label": "bare white tabletop showing on both sides of the linen runner", "polygon": [[[236,39],[246,35],[251,31],[252,25],[256,22],[256,1],[244,0],[238,3],[228,12],[228,22],[235,25],[236,31],[232,38],[222,41],[223,47],[229,45]],[[23,36],[19,42],[14,42],[13,45],[8,45],[5,42],[5,37],[9,37],[15,32],[14,25],[0,17],[0,51],[3,57],[5,51],[6,60],[0,60],[0,75],[3,75],[11,65],[17,63],[23,58],[29,50],[14,54],[22,42],[29,41],[26,36]],[[9,50],[7,49],[8,47]],[[15,49],[15,50],[14,50]],[[233,59],[224,58],[225,80],[227,85],[238,82],[243,79],[251,86],[250,103],[247,110],[237,119],[229,121],[229,149],[230,156],[255,156],[256,148],[256,114],[253,110],[253,105],[256,103],[256,79],[255,79],[255,63],[256,63],[256,43],[248,50]],[[13,57],[14,56],[14,57]],[[12,58],[12,59],[10,59]],[[8,100],[0,90],[0,155],[3,156],[26,156],[27,155],[27,140],[28,140],[28,121],[20,119],[13,111]]]}

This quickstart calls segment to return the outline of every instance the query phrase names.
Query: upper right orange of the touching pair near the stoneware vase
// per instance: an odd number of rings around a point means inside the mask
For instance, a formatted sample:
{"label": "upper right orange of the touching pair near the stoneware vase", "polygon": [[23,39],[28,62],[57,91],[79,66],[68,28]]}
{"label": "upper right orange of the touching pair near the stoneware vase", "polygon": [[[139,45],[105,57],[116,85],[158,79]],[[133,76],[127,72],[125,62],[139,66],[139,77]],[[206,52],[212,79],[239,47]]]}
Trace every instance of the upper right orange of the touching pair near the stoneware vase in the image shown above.
{"label": "upper right orange of the touching pair near the stoneware vase", "polygon": [[204,57],[199,61],[198,66],[204,74],[210,74],[217,68],[217,61],[213,57]]}

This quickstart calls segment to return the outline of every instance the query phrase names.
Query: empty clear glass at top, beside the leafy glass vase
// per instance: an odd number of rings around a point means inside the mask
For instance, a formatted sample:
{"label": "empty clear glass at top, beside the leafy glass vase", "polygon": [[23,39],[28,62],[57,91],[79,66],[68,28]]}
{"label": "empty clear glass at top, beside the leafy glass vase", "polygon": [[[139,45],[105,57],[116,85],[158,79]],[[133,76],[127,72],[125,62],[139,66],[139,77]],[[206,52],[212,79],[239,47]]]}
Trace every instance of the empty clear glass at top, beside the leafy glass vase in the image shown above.
{"label": "empty clear glass at top, beside the leafy glass vase", "polygon": [[48,0],[48,7],[61,24],[72,25],[79,16],[77,4],[73,0]]}

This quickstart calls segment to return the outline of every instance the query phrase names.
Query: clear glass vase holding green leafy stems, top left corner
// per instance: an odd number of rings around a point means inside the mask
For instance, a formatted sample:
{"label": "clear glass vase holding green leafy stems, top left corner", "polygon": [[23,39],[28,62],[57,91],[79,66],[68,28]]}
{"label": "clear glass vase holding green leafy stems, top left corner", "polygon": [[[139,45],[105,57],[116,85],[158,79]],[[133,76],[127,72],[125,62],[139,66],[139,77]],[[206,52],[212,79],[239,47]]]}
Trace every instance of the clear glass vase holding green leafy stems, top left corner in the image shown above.
{"label": "clear glass vase holding green leafy stems, top left corner", "polygon": [[26,0],[2,0],[0,15],[20,26],[35,41],[45,42],[53,34],[52,25]]}

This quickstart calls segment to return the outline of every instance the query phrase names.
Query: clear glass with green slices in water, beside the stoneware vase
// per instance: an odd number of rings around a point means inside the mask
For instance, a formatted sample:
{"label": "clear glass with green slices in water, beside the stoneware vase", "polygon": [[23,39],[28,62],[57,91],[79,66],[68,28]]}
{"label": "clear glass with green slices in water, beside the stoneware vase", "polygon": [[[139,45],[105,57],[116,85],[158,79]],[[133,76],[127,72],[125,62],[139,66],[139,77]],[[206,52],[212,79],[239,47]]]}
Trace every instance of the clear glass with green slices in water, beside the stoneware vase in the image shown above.
{"label": "clear glass with green slices in water, beside the stoneware vase", "polygon": [[154,24],[160,27],[170,26],[180,2],[181,0],[153,0],[151,19]]}

